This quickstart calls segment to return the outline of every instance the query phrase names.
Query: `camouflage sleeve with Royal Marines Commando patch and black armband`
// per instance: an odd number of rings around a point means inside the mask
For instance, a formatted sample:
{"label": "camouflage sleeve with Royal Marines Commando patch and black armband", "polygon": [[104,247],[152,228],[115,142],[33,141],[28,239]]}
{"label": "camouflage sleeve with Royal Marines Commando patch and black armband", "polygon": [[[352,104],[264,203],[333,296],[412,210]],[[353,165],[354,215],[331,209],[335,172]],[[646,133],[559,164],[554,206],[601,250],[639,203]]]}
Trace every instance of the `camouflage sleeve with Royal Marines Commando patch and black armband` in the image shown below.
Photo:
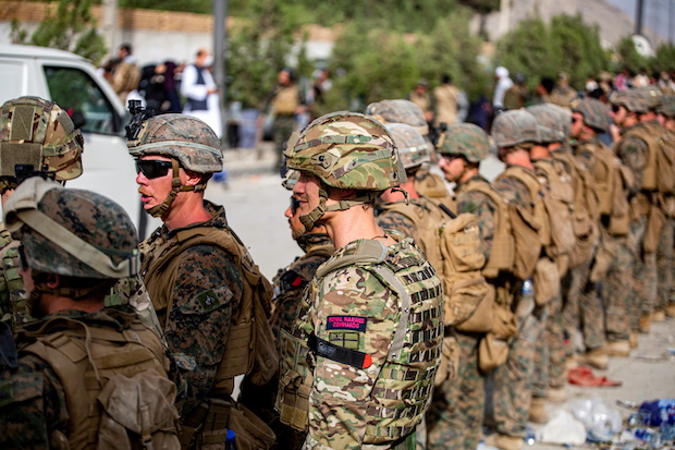
{"label": "camouflage sleeve with Royal Marines Commando patch and black armband", "polygon": [[367,400],[386,361],[398,299],[369,271],[352,266],[324,278],[315,307],[317,337],[367,353],[372,365],[360,369],[317,355],[308,448],[360,449]]}

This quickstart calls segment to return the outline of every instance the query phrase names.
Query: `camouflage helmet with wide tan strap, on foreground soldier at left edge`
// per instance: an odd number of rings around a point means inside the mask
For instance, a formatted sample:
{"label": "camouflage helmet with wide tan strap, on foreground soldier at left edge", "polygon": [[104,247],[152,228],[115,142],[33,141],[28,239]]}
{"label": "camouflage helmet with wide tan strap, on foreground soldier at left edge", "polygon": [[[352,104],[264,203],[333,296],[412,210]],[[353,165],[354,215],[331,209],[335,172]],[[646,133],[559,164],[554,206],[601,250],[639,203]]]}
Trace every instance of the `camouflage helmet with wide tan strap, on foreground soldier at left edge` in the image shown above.
{"label": "camouflage helmet with wide tan strap, on foreground soldier at left edge", "polygon": [[34,270],[78,278],[133,277],[138,238],[124,209],[90,191],[27,179],[4,205],[4,221]]}

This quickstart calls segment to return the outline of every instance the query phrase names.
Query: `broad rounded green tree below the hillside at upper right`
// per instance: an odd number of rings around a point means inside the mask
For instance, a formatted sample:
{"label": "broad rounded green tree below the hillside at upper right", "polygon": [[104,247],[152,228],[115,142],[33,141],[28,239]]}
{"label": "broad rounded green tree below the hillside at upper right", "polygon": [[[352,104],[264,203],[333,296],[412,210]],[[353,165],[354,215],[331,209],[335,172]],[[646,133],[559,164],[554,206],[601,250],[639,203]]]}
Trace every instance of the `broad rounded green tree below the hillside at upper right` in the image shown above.
{"label": "broad rounded green tree below the hillside at upper right", "polygon": [[541,16],[527,19],[498,44],[495,65],[511,73],[521,72],[533,87],[543,76],[569,74],[573,86],[608,70],[610,58],[600,45],[597,26],[586,25],[580,15],[561,14],[545,24]]}

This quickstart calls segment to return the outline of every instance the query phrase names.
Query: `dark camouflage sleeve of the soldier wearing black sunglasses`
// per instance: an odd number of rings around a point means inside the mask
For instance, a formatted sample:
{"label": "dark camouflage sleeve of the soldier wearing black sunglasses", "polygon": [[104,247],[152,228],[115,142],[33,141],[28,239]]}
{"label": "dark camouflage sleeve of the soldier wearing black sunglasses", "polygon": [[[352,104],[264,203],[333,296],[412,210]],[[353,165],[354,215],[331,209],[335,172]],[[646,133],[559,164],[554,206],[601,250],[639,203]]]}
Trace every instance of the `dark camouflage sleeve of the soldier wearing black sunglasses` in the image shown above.
{"label": "dark camouflage sleeve of the soldier wearing black sunglasses", "polygon": [[185,374],[188,389],[183,413],[208,394],[225,351],[233,309],[243,295],[243,276],[224,251],[197,245],[181,255],[173,288],[173,306],[164,330],[173,353],[195,360]]}

